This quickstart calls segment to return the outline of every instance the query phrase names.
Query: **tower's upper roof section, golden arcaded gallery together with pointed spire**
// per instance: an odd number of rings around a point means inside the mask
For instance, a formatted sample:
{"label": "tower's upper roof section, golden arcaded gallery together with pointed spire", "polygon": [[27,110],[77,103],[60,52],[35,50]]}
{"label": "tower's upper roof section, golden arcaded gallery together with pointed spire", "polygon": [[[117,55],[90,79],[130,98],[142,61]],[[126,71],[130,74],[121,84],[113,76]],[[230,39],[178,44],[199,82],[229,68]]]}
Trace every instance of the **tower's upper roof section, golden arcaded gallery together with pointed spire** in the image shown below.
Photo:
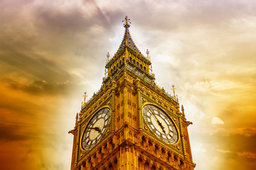
{"label": "tower's upper roof section, golden arcaded gallery together with pointed spire", "polygon": [[[151,83],[155,78],[154,74],[152,74],[152,72],[150,74],[149,72],[151,67],[150,57],[142,55],[142,52],[139,51],[137,45],[135,45],[132,40],[132,36],[129,33],[129,27],[131,26],[129,18],[126,16],[122,22],[124,23],[124,37],[112,59],[107,59],[105,66],[107,69],[105,75],[107,77],[104,77],[103,84],[110,83],[110,80],[114,79],[114,77],[119,77],[119,74],[123,72],[123,70],[132,72],[134,76],[140,77],[141,79],[144,79],[145,82],[148,81]],[[146,54],[149,56],[149,50],[147,50]],[[107,58],[109,57],[110,55],[108,53]],[[133,72],[133,70],[136,72]]]}

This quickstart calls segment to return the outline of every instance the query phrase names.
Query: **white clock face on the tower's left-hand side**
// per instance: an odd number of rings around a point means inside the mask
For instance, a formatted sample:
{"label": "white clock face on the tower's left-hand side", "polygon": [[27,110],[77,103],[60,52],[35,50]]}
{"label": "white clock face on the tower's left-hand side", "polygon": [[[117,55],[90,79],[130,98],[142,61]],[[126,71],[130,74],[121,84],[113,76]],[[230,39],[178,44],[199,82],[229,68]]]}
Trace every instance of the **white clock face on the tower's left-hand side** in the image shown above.
{"label": "white clock face on the tower's left-hand side", "polygon": [[102,108],[93,116],[82,135],[82,149],[91,149],[100,142],[110,125],[110,115],[110,108]]}

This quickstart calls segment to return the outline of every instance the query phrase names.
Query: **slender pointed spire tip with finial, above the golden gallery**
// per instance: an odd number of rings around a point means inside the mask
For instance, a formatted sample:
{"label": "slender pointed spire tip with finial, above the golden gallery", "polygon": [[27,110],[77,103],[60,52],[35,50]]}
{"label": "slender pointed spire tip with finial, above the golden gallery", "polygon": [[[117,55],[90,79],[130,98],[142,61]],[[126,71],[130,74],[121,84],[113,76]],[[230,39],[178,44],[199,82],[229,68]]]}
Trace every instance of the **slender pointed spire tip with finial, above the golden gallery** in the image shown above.
{"label": "slender pointed spire tip with finial, above the golden gallery", "polygon": [[124,23],[125,28],[124,38],[121,42],[121,45],[119,46],[119,49],[117,50],[117,54],[121,52],[124,49],[124,47],[129,47],[134,52],[137,52],[142,55],[142,52],[139,51],[134,41],[132,40],[132,36],[129,34],[129,27],[131,26],[130,19],[127,16],[125,16],[124,21],[122,22]]}

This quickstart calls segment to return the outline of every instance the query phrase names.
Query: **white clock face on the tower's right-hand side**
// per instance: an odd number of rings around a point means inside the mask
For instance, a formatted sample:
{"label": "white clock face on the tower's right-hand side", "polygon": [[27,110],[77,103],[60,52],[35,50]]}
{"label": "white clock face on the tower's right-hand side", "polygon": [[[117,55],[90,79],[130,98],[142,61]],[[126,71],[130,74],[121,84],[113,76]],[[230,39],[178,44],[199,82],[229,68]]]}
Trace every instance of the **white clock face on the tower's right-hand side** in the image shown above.
{"label": "white clock face on the tower's right-hand side", "polygon": [[178,141],[178,132],[171,118],[153,105],[143,108],[143,117],[149,129],[166,143],[174,144]]}

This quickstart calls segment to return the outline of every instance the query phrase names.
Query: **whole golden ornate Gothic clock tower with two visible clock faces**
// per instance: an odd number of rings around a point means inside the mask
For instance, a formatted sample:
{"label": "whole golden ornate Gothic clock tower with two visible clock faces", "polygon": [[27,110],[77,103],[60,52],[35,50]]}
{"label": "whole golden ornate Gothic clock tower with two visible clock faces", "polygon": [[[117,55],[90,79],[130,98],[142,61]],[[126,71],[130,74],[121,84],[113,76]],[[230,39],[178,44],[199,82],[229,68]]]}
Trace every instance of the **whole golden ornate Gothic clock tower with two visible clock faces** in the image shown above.
{"label": "whole golden ornate Gothic clock tower with two visible clock faces", "polygon": [[[178,98],[160,89],[149,51],[124,38],[105,66],[102,86],[76,116],[71,170],[194,169],[188,122]],[[86,94],[85,94],[86,95]],[[181,111],[180,111],[181,110]]]}

